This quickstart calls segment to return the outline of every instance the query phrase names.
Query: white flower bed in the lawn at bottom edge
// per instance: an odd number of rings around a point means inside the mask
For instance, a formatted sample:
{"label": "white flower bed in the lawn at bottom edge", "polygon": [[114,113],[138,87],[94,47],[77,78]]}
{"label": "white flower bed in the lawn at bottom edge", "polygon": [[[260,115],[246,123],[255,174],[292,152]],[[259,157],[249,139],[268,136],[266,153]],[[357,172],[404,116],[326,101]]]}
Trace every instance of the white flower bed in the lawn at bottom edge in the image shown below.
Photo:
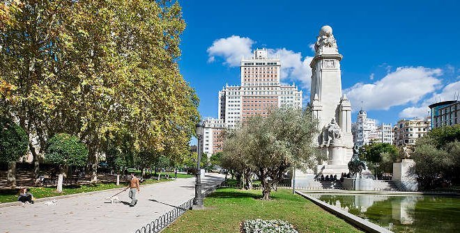
{"label": "white flower bed in the lawn at bottom edge", "polygon": [[243,233],[298,233],[293,225],[283,220],[245,220],[241,228]]}

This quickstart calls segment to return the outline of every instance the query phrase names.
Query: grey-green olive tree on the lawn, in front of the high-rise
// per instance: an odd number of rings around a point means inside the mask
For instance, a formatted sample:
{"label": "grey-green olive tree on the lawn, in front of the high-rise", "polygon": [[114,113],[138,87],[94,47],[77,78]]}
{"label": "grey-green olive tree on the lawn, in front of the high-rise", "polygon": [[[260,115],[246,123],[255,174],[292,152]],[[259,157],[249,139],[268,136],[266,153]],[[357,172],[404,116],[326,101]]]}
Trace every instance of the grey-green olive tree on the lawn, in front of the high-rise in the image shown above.
{"label": "grey-green olive tree on the lawn, in front of the high-rise", "polygon": [[[292,168],[312,167],[319,157],[312,145],[316,120],[309,109],[284,106],[268,115],[247,118],[224,139],[222,166],[248,177],[254,172],[263,186],[263,199]],[[249,172],[248,172],[249,171]]]}

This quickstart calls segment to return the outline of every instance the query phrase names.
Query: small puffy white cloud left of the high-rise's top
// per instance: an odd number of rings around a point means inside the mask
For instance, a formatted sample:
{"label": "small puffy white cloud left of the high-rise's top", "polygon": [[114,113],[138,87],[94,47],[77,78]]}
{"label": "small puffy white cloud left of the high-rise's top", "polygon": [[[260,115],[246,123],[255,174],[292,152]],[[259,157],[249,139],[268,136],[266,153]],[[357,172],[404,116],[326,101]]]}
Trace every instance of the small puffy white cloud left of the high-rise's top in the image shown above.
{"label": "small puffy white cloud left of the high-rise's top", "polygon": [[251,47],[254,40],[242,38],[239,35],[232,35],[229,38],[214,40],[213,45],[208,48],[208,62],[215,61],[216,56],[224,58],[224,64],[230,67],[240,65],[241,56],[250,57]]}

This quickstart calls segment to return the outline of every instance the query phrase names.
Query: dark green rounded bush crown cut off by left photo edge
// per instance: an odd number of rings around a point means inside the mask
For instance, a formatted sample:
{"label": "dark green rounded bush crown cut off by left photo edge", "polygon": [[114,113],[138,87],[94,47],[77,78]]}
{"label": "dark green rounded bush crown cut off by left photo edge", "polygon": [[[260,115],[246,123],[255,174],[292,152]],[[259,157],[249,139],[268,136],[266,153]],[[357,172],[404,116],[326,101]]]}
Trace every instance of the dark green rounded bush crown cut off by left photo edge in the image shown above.
{"label": "dark green rounded bush crown cut off by left photo edge", "polygon": [[0,163],[17,161],[26,154],[29,136],[9,118],[0,116]]}

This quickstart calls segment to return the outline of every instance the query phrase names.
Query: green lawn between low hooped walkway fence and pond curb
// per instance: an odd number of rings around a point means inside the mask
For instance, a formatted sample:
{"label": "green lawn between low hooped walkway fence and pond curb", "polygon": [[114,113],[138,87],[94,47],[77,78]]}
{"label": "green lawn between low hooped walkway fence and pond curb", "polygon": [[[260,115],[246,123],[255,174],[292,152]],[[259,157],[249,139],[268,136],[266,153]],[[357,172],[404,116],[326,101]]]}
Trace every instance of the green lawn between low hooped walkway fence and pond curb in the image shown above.
{"label": "green lawn between low hooped walkway fence and pond curb", "polygon": [[187,211],[163,232],[238,233],[243,220],[254,218],[286,220],[298,232],[361,232],[291,191],[273,191],[271,197],[262,201],[261,191],[218,189],[204,200],[207,209]]}

